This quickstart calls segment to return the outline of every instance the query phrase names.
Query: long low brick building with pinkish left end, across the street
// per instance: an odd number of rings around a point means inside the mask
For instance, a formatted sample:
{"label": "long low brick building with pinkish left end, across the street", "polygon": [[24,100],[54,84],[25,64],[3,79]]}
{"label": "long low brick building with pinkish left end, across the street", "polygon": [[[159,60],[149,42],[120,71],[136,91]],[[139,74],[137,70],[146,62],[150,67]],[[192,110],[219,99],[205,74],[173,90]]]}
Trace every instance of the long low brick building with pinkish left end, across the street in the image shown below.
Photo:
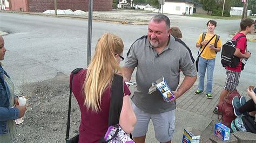
{"label": "long low brick building with pinkish left end, across the street", "polygon": [[[111,11],[112,0],[93,1],[93,11]],[[89,0],[57,0],[57,9],[88,11]],[[25,12],[44,12],[54,10],[54,0],[9,0],[10,10]]]}

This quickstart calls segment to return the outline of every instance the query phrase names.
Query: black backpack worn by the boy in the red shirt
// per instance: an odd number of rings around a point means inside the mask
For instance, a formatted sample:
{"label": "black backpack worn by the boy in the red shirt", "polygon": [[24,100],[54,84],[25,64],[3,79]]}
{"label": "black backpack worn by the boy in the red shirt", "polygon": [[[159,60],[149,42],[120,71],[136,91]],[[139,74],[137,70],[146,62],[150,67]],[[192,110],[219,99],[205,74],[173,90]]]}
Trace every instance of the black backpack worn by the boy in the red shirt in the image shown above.
{"label": "black backpack worn by the boy in the red shirt", "polygon": [[221,51],[221,64],[223,67],[237,67],[240,62],[240,58],[234,56],[234,52],[237,46],[237,41],[245,37],[245,35],[240,35],[237,39],[228,40],[223,46]]}

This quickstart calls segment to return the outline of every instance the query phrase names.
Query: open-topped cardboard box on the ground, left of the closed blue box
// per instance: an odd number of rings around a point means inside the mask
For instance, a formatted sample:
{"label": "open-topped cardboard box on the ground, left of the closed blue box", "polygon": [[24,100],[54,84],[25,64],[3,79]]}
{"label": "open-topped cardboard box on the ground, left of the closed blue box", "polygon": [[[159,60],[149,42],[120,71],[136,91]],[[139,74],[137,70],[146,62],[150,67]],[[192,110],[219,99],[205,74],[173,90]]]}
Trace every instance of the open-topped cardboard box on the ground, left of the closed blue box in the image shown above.
{"label": "open-topped cardboard box on the ground, left of the closed blue box", "polygon": [[194,127],[184,128],[183,143],[199,143],[200,141],[200,131]]}

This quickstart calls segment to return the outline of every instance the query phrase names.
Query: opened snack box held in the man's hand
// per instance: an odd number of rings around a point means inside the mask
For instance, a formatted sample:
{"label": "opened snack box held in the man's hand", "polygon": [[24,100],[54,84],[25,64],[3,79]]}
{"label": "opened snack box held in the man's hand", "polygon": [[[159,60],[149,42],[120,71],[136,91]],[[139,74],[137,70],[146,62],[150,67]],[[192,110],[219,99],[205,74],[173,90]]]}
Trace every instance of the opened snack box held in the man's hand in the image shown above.
{"label": "opened snack box held in the man's hand", "polygon": [[160,91],[161,95],[163,95],[166,102],[170,102],[174,99],[174,95],[172,94],[172,91],[169,87],[169,85],[166,83],[166,80],[164,77],[159,78],[157,81],[157,89]]}

